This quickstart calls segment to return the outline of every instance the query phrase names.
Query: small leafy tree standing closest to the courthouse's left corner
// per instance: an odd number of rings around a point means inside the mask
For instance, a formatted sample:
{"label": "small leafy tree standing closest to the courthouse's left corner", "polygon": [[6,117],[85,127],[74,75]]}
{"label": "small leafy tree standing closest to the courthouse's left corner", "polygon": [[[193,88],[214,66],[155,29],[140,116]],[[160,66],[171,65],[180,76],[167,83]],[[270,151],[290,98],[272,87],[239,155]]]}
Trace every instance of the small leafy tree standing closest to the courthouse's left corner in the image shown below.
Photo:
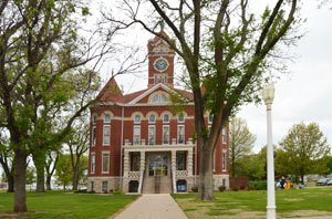
{"label": "small leafy tree standing closest to the courthouse's left corner", "polygon": [[76,124],[75,128],[73,128],[72,135],[68,140],[68,146],[71,153],[71,167],[73,171],[73,190],[76,190],[79,185],[81,158],[89,149],[89,133],[90,124],[86,123],[86,121],[85,123],[84,121],[81,121],[81,123]]}

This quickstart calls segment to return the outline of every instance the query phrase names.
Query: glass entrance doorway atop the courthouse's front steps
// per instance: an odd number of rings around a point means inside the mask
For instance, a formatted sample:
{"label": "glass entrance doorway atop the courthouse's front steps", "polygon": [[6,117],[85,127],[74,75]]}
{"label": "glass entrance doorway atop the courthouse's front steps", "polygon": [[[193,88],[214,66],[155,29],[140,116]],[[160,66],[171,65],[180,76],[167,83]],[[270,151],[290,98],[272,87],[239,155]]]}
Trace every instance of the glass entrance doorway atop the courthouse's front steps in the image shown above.
{"label": "glass entrance doorway atop the courthouse's front steps", "polygon": [[168,155],[151,155],[148,157],[148,176],[168,175]]}

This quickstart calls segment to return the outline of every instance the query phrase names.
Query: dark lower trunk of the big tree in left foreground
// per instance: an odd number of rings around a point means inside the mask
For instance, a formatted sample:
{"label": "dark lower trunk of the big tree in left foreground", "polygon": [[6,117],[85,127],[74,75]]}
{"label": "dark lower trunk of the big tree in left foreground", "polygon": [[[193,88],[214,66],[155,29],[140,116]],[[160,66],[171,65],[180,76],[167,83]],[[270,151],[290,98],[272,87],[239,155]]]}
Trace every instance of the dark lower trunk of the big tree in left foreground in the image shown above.
{"label": "dark lower trunk of the big tree in left foreground", "polygon": [[21,149],[15,150],[15,182],[14,182],[14,212],[27,212],[25,196],[25,174],[27,174],[27,153]]}

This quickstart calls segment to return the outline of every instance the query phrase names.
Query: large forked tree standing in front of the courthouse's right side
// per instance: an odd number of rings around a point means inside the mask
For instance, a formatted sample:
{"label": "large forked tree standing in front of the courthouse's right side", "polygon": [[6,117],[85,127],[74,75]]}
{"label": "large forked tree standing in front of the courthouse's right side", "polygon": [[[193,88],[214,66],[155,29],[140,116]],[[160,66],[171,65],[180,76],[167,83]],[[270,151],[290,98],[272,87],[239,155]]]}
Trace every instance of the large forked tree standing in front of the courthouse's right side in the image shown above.
{"label": "large forked tree standing in front of the courthouse's right side", "polygon": [[[123,29],[142,24],[168,43],[186,66],[200,152],[197,199],[211,200],[212,155],[221,128],[240,105],[259,102],[258,91],[273,75],[269,74],[271,65],[283,56],[277,45],[289,45],[295,40],[291,30],[299,23],[294,17],[298,0],[276,0],[259,17],[250,13],[248,0],[120,2],[127,17],[105,14],[108,21]],[[154,11],[144,17],[142,10],[148,7]],[[158,23],[162,31],[157,30]],[[175,40],[167,38],[164,29]],[[210,132],[205,123],[206,111],[214,114]]]}

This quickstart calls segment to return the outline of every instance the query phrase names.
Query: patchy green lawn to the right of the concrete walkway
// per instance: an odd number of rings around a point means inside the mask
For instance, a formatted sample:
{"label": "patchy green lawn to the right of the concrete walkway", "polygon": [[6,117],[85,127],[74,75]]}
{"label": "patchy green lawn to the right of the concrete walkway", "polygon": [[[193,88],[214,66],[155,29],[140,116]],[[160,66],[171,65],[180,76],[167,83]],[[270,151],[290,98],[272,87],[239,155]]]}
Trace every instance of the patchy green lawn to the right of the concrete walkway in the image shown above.
{"label": "patchy green lawn to the right of the concrete walkway", "polygon": [[[198,201],[197,194],[176,194],[174,199],[188,218],[264,218],[267,191],[215,192],[216,200]],[[300,218],[317,215],[332,218],[332,187],[277,190],[279,218]]]}

